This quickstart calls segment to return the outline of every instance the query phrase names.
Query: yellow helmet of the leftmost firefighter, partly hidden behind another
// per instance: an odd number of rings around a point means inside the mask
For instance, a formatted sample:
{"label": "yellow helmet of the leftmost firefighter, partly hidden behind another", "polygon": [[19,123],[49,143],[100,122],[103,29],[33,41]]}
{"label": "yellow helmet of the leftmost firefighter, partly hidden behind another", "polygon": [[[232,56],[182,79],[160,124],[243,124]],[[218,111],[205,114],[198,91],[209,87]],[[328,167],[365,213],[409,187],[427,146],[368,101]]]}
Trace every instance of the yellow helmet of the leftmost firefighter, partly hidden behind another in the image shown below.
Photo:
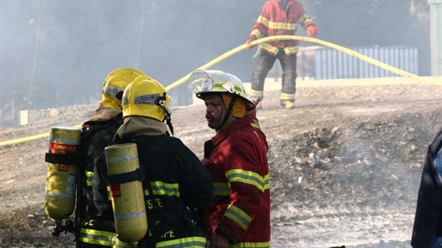
{"label": "yellow helmet of the leftmost firefighter, partly hidden behind another", "polygon": [[103,83],[100,104],[108,108],[122,110],[123,91],[138,76],[145,76],[145,74],[134,68],[119,68],[109,73]]}

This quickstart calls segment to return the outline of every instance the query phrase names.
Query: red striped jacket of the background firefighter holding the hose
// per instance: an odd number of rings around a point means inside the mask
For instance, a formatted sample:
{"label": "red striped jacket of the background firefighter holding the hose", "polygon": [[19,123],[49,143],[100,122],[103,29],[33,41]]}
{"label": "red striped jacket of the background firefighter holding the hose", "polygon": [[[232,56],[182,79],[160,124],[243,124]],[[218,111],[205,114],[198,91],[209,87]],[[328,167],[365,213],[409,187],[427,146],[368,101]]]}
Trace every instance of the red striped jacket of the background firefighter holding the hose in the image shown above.
{"label": "red striped jacket of the background firefighter holding the hose", "polygon": [[[261,15],[252,28],[249,39],[254,41],[265,34],[267,36],[294,35],[297,24],[304,29],[314,25],[312,19],[305,14],[304,6],[299,1],[290,0],[286,9],[281,9],[277,0],[270,0],[262,7]],[[287,55],[297,53],[299,41],[269,41],[259,46],[270,54],[276,55],[279,48],[284,48]]]}

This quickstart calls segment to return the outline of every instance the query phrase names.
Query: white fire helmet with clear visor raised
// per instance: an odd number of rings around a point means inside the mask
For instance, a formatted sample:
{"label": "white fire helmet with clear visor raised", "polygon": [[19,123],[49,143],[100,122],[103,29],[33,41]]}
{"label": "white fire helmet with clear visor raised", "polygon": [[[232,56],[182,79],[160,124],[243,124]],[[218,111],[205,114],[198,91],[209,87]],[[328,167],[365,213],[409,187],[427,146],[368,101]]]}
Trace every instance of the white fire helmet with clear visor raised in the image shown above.
{"label": "white fire helmet with clear visor raised", "polygon": [[252,110],[255,104],[247,99],[242,81],[237,76],[224,71],[197,70],[190,75],[187,87],[197,95],[197,98],[204,100],[204,95],[210,93],[230,93],[237,95],[244,100],[246,109]]}

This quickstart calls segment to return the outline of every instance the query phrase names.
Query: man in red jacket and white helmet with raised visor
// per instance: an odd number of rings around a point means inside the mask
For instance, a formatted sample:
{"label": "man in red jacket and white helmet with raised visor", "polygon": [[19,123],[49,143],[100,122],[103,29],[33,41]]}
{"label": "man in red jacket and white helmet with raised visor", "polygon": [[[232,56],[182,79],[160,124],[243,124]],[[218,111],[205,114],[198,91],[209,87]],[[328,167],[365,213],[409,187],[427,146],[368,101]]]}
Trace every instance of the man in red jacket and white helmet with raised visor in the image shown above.
{"label": "man in red jacket and white helmet with raised visor", "polygon": [[268,145],[249,113],[255,104],[240,79],[222,71],[195,71],[188,87],[205,101],[208,126],[217,132],[202,160],[215,187],[205,212],[210,247],[269,247]]}

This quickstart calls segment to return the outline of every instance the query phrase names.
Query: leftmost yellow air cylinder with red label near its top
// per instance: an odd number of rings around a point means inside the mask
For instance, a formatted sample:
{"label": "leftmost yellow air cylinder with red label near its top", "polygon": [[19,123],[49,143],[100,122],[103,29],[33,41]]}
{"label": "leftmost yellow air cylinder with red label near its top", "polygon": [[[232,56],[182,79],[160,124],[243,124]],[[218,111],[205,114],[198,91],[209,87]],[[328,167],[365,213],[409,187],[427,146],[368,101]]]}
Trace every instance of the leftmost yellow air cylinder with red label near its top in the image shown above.
{"label": "leftmost yellow air cylinder with red label near its top", "polygon": [[[49,155],[78,153],[80,149],[78,128],[52,127],[49,136]],[[66,161],[67,163],[70,163]],[[76,200],[77,165],[48,162],[44,210],[48,217],[61,222],[72,215]]]}

